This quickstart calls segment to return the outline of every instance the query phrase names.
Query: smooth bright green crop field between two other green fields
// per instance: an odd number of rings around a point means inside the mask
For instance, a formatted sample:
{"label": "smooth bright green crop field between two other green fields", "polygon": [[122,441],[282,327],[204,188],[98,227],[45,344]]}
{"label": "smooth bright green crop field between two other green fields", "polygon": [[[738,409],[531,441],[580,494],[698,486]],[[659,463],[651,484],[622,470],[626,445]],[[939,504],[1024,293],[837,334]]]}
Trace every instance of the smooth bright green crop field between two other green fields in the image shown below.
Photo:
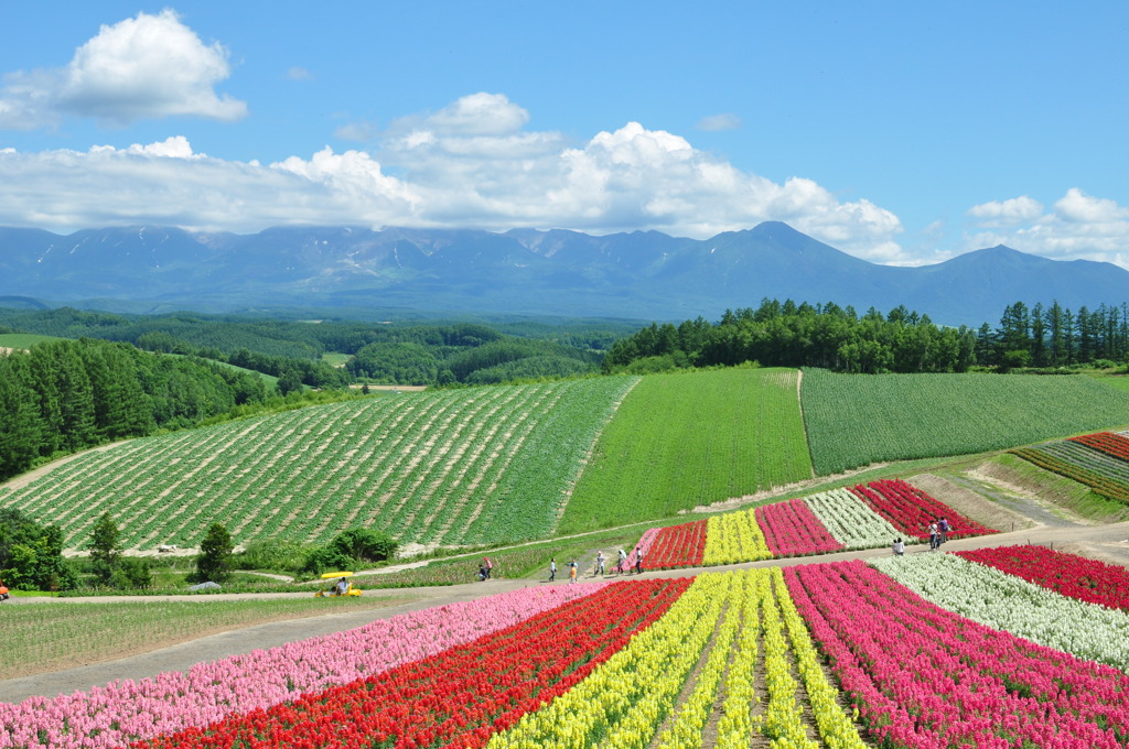
{"label": "smooth bright green crop field between two other green fields", "polygon": [[601,435],[560,532],[811,478],[797,376],[739,368],[645,377]]}

